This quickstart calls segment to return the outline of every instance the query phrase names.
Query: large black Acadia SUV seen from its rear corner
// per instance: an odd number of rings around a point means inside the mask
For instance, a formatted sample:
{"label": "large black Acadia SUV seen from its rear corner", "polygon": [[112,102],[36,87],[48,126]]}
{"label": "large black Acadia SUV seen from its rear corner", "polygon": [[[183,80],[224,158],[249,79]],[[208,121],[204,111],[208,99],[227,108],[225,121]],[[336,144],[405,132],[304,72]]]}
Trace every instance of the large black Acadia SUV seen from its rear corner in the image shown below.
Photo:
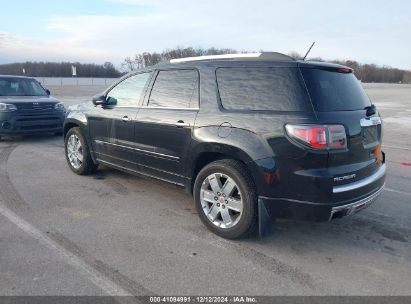
{"label": "large black Acadia SUV seen from its rear corner", "polygon": [[279,53],[172,60],[71,107],[65,151],[181,185],[226,238],[272,217],[328,221],[381,193],[381,118],[352,70]]}

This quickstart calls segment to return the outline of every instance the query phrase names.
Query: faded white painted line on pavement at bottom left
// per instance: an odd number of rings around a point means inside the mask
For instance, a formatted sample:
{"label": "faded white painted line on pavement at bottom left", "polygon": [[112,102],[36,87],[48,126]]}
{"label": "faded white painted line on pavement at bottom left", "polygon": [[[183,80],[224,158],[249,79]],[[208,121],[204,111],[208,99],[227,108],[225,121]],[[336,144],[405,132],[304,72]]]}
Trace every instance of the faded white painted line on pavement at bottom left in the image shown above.
{"label": "faded white painted line on pavement at bottom left", "polygon": [[75,254],[67,251],[62,246],[57,244],[55,241],[50,239],[47,235],[43,234],[40,230],[29,224],[27,221],[19,217],[16,213],[5,207],[0,202],[0,214],[7,218],[10,222],[15,224],[21,230],[26,232],[28,235],[38,240],[43,245],[52,249],[59,256],[64,258],[67,263],[74,266],[81,272],[83,272],[86,277],[97,287],[101,288],[109,296],[132,296],[128,291],[124,290],[122,287],[106,278],[99,272],[97,272],[93,267],[85,263]]}

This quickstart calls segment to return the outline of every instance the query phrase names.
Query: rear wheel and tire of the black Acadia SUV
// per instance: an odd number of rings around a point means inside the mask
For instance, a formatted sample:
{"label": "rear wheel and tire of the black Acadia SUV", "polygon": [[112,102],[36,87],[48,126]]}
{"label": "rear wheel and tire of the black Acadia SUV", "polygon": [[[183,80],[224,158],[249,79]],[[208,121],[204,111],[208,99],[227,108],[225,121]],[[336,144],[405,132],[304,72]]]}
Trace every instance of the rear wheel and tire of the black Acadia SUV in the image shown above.
{"label": "rear wheel and tire of the black Acadia SUV", "polygon": [[201,221],[215,234],[236,239],[254,231],[257,191],[243,163],[223,159],[208,164],[197,175],[193,194]]}

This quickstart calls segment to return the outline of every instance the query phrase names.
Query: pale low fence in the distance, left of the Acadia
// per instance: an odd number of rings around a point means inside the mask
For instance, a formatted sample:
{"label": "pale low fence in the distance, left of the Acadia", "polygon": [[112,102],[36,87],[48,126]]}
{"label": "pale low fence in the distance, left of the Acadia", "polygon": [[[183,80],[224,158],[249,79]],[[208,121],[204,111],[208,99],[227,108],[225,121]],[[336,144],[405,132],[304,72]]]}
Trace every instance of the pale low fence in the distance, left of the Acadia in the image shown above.
{"label": "pale low fence in the distance, left of the Acadia", "polygon": [[109,86],[118,78],[35,77],[43,86]]}

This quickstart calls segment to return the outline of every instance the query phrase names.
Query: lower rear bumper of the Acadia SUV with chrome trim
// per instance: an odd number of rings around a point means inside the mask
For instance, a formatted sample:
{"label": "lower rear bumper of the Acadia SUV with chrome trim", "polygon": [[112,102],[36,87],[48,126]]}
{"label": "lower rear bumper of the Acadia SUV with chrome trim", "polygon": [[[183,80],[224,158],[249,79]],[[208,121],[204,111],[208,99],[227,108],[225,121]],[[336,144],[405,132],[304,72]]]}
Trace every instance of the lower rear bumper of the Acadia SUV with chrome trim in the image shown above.
{"label": "lower rear bumper of the Acadia SUV with chrome trim", "polygon": [[[355,197],[336,202],[316,203],[288,198],[270,198],[260,196],[266,209],[273,218],[290,218],[296,220],[325,222],[335,218],[352,215],[371,205],[382,193],[385,185],[385,165],[375,174],[367,177],[368,183],[358,181],[345,188],[346,195],[355,193]],[[348,186],[347,185],[347,186]],[[335,187],[334,187],[335,189]],[[342,189],[342,188],[337,188]],[[362,195],[358,193],[362,192]]]}

